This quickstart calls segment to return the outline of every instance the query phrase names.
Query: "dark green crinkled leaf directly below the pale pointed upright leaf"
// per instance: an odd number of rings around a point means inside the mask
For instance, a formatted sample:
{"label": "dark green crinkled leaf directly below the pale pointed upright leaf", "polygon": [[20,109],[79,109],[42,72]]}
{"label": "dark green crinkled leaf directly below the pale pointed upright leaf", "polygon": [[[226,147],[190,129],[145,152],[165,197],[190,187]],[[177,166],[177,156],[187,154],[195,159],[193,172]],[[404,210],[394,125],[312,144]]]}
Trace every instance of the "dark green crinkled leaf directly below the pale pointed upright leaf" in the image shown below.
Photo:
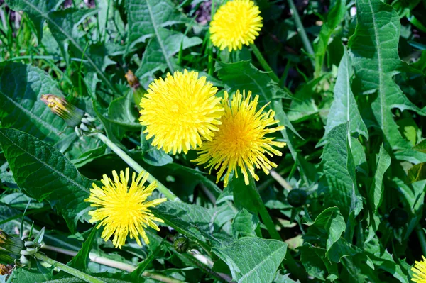
{"label": "dark green crinkled leaf directly below the pale pointed upright leaf", "polygon": [[322,152],[324,175],[320,186],[324,190],[325,205],[337,206],[344,218],[362,208],[361,195],[356,187],[355,165],[348,140],[347,123],[333,128]]}

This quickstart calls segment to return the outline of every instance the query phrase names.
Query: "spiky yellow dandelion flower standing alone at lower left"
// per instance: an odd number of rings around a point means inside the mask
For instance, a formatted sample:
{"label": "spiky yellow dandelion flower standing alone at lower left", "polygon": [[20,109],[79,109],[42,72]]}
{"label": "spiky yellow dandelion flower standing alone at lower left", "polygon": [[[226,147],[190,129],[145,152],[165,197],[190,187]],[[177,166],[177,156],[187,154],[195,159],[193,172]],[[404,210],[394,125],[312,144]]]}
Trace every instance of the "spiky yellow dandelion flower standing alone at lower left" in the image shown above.
{"label": "spiky yellow dandelion flower standing alone at lower left", "polygon": [[146,198],[151,196],[153,190],[157,187],[155,182],[148,187],[143,187],[149,176],[146,172],[141,172],[137,178],[133,172],[130,187],[127,185],[129,182],[129,168],[126,168],[126,173],[121,171],[120,177],[114,170],[112,176],[114,181],[107,177],[107,174],[104,174],[104,179],[102,179],[104,186],[102,186],[102,189],[93,184],[89,198],[84,199],[84,201],[92,203],[90,206],[97,207],[96,210],[89,211],[89,215],[92,216],[90,222],[101,221],[97,229],[104,226],[102,238],[105,241],[114,235],[112,243],[116,248],[121,248],[124,245],[129,233],[130,238],[135,238],[138,245],[141,245],[139,235],[148,244],[149,240],[146,237],[144,228],[150,226],[160,231],[160,228],[153,221],[163,223],[163,220],[155,217],[148,207],[157,206],[167,199],[146,201]]}

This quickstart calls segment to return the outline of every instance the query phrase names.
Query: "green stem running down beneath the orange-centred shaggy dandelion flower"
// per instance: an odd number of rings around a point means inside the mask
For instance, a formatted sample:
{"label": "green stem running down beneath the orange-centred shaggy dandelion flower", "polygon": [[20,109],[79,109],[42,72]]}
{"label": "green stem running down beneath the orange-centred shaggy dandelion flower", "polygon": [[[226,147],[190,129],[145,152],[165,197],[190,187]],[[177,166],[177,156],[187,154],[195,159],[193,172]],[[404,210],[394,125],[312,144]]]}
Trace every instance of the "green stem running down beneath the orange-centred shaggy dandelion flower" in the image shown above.
{"label": "green stem running down beneath the orange-centred shaggy dandelion flower", "polygon": [[[257,204],[258,207],[258,213],[261,216],[263,224],[265,224],[266,228],[268,229],[269,235],[271,235],[271,238],[275,240],[283,240],[281,238],[280,233],[278,233],[277,229],[275,228],[275,224],[273,223],[273,220],[271,218],[271,215],[269,215],[268,210],[266,210],[265,204],[263,204],[261,195],[259,194],[258,190],[256,189],[256,184],[254,183],[253,177],[249,174],[249,180],[250,184],[249,186],[249,195],[253,198],[253,201]],[[298,266],[295,259],[291,255],[290,251],[288,250],[287,253],[285,253],[285,265],[287,265],[288,270],[290,270],[290,273],[294,274],[297,279],[300,279],[300,282],[305,282],[307,279],[307,274],[305,270]]]}

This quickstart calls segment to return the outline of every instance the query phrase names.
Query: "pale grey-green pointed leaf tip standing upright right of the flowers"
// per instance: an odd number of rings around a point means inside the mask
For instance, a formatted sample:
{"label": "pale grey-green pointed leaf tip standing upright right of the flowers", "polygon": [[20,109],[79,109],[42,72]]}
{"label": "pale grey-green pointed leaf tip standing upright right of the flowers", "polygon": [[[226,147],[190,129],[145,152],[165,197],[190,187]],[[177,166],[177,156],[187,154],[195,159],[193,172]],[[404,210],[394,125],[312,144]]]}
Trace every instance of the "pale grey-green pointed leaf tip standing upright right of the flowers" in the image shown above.
{"label": "pale grey-green pointed leaf tip standing upright right of the flowers", "polygon": [[337,80],[334,85],[334,101],[329,110],[327,126],[325,126],[324,139],[332,128],[342,123],[349,123],[350,134],[364,135],[368,139],[367,127],[362,121],[358,106],[351,90],[351,77],[354,70],[351,67],[351,58],[345,52],[340,61]]}

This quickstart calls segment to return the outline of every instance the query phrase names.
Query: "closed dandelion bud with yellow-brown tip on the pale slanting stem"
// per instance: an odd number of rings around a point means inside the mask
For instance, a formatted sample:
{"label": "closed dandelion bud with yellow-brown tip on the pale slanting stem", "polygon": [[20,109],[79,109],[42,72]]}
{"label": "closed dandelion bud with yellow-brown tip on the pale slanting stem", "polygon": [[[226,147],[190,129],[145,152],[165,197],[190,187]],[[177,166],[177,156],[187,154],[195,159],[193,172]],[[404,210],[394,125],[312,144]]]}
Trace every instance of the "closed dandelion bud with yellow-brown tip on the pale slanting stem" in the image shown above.
{"label": "closed dandelion bud with yellow-brown tip on the pale slanting stem", "polygon": [[53,94],[43,94],[40,99],[69,126],[75,127],[81,123],[84,111],[68,103],[66,99]]}

